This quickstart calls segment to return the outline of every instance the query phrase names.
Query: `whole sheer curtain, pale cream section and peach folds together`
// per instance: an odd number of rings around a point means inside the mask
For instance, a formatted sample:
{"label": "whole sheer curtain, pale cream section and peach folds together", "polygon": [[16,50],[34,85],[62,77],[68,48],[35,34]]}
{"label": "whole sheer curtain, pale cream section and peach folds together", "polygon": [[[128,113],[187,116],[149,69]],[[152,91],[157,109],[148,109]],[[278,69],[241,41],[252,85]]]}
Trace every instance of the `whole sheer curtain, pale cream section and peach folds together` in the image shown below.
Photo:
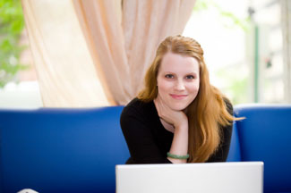
{"label": "whole sheer curtain, pale cream section and peach folds together", "polygon": [[[137,94],[159,42],[182,33],[195,0],[73,0],[76,14],[67,16],[59,2],[66,1],[22,1],[44,104],[94,106],[125,105]],[[39,18],[47,10],[50,21]],[[44,33],[46,22],[60,29]],[[65,28],[68,22],[75,29]]]}

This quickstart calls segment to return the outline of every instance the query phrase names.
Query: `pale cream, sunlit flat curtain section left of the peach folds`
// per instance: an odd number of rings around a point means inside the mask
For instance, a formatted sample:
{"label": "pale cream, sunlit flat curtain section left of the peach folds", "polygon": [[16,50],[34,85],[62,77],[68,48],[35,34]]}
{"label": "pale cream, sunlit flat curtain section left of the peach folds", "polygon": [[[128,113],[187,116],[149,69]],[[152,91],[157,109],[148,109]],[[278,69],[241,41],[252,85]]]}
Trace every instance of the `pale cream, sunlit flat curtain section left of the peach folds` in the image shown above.
{"label": "pale cream, sunlit flat curtain section left of the peach folds", "polygon": [[23,0],[45,107],[109,105],[70,0]]}

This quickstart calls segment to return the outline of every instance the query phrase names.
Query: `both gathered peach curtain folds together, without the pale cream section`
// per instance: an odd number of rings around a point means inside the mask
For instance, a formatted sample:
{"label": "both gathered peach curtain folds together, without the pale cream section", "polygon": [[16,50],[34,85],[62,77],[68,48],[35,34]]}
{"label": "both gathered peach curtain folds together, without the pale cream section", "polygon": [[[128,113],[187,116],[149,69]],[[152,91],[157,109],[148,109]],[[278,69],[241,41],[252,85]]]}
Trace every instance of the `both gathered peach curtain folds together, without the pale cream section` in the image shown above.
{"label": "both gathered peach curtain folds together, without the pale cream section", "polygon": [[144,73],[158,44],[167,36],[183,32],[194,3],[194,0],[74,0],[79,21],[86,23],[82,29],[91,52],[99,58],[96,67],[104,72],[103,83],[116,104],[126,105],[141,90]]}

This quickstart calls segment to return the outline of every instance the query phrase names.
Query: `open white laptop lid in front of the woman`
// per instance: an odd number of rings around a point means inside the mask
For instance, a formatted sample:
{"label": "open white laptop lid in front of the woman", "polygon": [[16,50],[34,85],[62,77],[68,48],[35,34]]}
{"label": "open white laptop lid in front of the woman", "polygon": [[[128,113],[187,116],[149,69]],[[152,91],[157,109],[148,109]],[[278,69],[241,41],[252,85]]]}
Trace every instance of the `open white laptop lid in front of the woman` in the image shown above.
{"label": "open white laptop lid in front of the woman", "polygon": [[116,165],[116,193],[262,193],[263,163]]}

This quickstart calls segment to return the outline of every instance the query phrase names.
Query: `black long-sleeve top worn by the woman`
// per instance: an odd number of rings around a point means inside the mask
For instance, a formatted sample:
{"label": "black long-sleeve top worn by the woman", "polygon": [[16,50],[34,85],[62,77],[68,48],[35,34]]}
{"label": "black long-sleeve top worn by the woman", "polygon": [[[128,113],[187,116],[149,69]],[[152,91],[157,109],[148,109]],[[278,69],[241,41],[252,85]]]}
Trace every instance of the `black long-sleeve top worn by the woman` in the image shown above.
{"label": "black long-sleeve top worn by the woman", "polygon": [[[227,110],[233,113],[232,105],[226,100]],[[126,164],[171,164],[167,159],[174,133],[166,130],[159,120],[153,101],[144,103],[134,98],[120,117],[131,157]],[[218,150],[210,155],[207,162],[225,162],[227,160],[232,125],[222,128],[222,138]]]}

